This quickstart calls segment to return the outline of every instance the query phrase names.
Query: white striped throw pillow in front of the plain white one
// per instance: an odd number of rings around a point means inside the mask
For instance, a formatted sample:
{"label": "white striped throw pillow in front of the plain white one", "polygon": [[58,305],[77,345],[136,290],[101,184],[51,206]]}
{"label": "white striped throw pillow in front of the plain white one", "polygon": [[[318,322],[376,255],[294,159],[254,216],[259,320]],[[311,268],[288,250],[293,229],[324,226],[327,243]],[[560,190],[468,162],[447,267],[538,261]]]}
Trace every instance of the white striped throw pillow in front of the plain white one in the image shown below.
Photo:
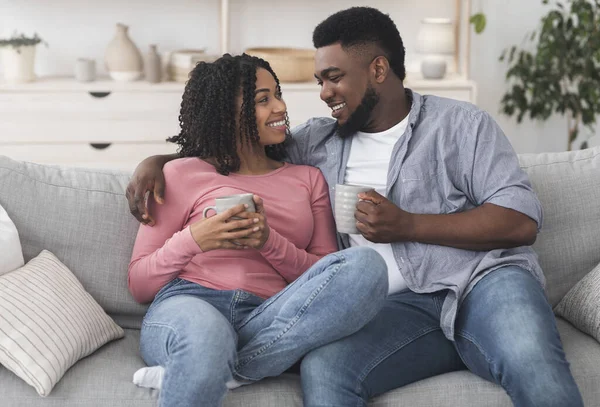
{"label": "white striped throw pillow in front of the plain white one", "polygon": [[122,338],[118,326],[47,250],[0,276],[0,364],[40,396],[79,359]]}

